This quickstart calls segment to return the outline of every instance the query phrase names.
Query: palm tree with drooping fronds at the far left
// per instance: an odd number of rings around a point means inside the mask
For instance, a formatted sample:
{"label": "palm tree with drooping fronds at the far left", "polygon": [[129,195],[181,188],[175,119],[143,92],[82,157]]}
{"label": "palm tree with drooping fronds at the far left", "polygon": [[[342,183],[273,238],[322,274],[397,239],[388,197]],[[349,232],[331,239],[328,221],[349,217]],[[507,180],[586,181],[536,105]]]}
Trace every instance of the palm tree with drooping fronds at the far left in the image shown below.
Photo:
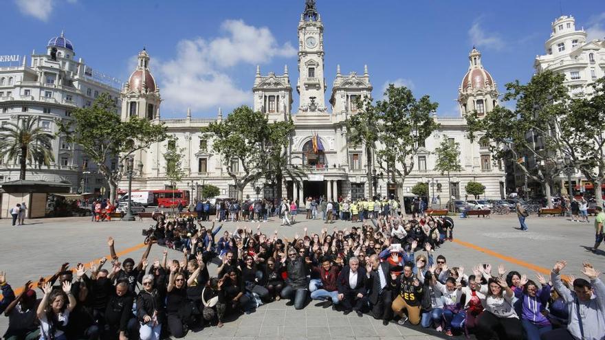
{"label": "palm tree with drooping fronds at the far left", "polygon": [[[21,124],[19,124],[21,123]],[[54,136],[38,126],[38,117],[24,117],[17,123],[0,127],[0,159],[19,163],[19,179],[25,179],[27,163],[50,167],[54,161],[52,140]]]}

